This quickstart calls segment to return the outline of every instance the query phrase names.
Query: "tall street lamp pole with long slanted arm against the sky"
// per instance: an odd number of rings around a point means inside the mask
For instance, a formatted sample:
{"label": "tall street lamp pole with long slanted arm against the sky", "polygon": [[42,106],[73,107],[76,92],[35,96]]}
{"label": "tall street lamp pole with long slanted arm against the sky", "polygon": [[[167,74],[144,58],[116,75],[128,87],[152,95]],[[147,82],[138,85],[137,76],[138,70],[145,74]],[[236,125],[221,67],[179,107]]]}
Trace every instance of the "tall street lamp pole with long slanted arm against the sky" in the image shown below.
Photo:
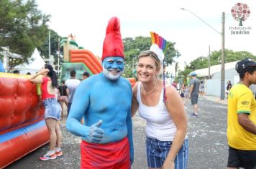
{"label": "tall street lamp pole with long slanted arm against the sky", "polygon": [[[198,19],[200,19],[201,21],[204,22],[204,24],[207,24],[209,27],[211,27],[211,29],[214,29],[213,26],[211,26],[210,24],[208,24],[206,21],[204,21],[203,19],[201,19],[201,17],[197,16],[196,14],[194,14],[192,11],[189,11],[188,9],[183,9],[180,8],[184,11],[188,11],[191,14],[193,14],[194,16],[196,16]],[[216,29],[214,29],[215,32],[217,32],[218,34],[221,35],[221,100],[225,99],[225,55],[224,55],[224,49],[225,49],[225,13],[222,12],[222,29],[221,32],[217,31]]]}

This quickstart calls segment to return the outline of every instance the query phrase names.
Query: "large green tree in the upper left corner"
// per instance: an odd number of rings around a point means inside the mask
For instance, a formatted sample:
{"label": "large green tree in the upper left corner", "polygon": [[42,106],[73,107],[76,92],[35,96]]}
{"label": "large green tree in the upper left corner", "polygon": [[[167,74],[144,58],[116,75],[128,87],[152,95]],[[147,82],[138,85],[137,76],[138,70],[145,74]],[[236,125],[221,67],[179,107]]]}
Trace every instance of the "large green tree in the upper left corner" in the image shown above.
{"label": "large green tree in the upper left corner", "polygon": [[0,16],[0,47],[9,47],[10,52],[23,57],[9,62],[9,66],[28,62],[35,47],[40,47],[47,38],[50,15],[42,14],[35,0],[1,0]]}

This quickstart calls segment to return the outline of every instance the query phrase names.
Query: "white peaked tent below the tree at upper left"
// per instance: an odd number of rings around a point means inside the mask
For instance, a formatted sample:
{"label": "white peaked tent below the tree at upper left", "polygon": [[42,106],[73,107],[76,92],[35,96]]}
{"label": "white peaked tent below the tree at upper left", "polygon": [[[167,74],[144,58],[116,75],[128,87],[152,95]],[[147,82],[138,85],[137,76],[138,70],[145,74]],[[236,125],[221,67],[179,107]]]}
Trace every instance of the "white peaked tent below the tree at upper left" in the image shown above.
{"label": "white peaked tent below the tree at upper left", "polygon": [[29,64],[19,64],[18,66],[14,67],[13,70],[19,70],[20,74],[27,74],[27,72],[35,74],[35,72],[38,72],[44,65],[45,61],[40,56],[37,48],[35,48],[35,51],[32,54],[31,59],[29,60]]}

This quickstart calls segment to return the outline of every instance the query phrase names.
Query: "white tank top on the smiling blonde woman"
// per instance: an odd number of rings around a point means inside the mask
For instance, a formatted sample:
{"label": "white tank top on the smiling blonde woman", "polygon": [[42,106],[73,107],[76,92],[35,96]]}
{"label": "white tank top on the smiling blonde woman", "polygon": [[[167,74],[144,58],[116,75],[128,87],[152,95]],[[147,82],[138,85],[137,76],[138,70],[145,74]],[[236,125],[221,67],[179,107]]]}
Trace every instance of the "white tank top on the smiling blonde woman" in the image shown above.
{"label": "white tank top on the smiling blonde woman", "polygon": [[137,88],[137,102],[139,103],[140,117],[147,121],[147,137],[156,138],[161,141],[173,141],[176,133],[176,126],[163,102],[163,90],[158,104],[154,107],[147,106],[142,103],[140,85],[141,82],[139,82]]}

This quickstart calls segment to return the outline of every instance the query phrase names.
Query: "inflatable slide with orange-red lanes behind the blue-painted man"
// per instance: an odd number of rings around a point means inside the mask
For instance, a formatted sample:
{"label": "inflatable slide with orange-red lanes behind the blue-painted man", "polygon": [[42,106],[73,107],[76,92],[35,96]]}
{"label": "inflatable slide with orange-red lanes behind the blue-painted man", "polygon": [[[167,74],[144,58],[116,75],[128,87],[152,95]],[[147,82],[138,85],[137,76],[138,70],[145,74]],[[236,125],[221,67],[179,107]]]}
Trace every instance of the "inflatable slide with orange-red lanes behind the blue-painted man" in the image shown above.
{"label": "inflatable slide with orange-red lanes behind the blue-painted man", "polygon": [[[83,72],[90,75],[102,72],[101,58],[94,55],[91,51],[78,47],[76,37],[72,34],[68,38],[60,41],[60,47],[63,47],[64,63],[62,64],[60,80],[70,79],[70,71],[76,70],[76,78],[82,79]],[[132,86],[135,84],[135,78],[127,78]]]}

